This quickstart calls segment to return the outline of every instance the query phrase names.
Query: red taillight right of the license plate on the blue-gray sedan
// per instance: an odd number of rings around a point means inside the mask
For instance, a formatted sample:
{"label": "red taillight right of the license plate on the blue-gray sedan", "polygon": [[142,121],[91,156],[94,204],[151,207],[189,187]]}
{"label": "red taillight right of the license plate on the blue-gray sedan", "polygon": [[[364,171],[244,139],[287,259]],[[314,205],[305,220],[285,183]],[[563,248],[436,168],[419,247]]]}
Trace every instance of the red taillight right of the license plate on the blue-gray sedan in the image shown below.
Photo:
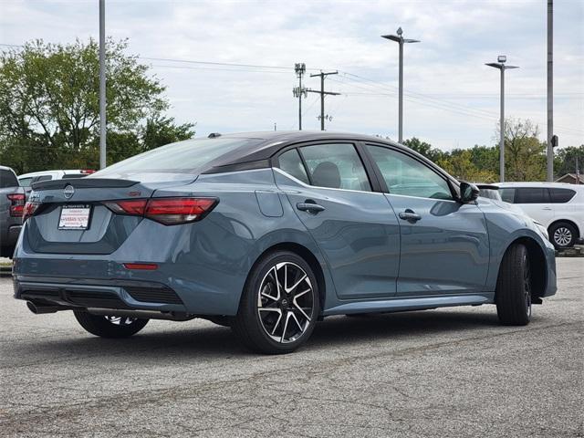
{"label": "red taillight right of the license plate on the blue-gray sedan", "polygon": [[117,214],[144,216],[165,225],[186,224],[203,219],[219,202],[217,198],[154,198],[106,202]]}

